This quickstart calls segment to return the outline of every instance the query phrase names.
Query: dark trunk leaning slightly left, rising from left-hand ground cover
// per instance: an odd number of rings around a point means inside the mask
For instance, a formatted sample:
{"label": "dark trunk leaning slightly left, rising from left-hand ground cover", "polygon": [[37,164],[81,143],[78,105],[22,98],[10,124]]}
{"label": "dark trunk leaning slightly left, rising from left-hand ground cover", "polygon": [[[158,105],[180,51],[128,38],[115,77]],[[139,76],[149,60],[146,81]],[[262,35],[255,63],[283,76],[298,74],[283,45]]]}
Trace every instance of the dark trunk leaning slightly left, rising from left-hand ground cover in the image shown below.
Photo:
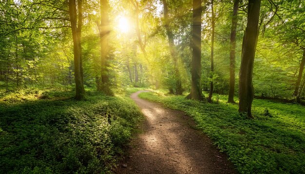
{"label": "dark trunk leaning slightly left, rising from left-hand ground cover", "polygon": [[[81,6],[81,3],[78,3],[78,10]],[[81,11],[81,10],[80,10]],[[76,85],[76,100],[81,100],[85,95],[85,89],[81,77],[81,47],[80,47],[80,35],[78,35],[77,31],[80,32],[81,29],[77,29],[77,11],[76,11],[76,0],[69,0],[69,15],[72,29],[72,37],[73,37],[73,52],[74,52],[74,76],[75,76],[75,85]],[[78,13],[78,16],[81,16],[81,13]],[[82,17],[78,17],[82,18]],[[79,21],[78,21],[79,22]],[[81,25],[78,25],[81,27]]]}

